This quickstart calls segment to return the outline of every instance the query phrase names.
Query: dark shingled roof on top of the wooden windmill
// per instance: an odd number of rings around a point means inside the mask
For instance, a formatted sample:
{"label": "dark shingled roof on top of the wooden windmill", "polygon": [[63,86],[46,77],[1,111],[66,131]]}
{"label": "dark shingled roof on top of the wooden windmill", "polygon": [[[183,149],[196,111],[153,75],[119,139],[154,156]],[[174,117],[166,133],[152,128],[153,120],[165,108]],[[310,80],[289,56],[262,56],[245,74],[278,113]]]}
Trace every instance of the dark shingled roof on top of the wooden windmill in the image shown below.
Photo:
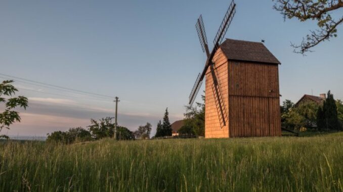
{"label": "dark shingled roof on top of the wooden windmill", "polygon": [[228,59],[280,64],[280,61],[260,42],[226,39],[220,47]]}

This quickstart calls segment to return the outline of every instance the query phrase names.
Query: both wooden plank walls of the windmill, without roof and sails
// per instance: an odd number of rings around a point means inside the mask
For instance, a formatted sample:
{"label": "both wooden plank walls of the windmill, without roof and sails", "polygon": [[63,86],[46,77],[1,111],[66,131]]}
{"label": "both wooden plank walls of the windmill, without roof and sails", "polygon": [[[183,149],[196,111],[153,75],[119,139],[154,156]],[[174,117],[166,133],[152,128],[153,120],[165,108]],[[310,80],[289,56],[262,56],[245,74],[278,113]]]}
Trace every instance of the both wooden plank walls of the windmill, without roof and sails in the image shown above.
{"label": "both wooden plank walls of the windmill, without roof and sails", "polygon": [[205,138],[281,135],[278,65],[228,61],[219,49],[213,57],[228,119],[220,113],[208,69],[205,81]]}

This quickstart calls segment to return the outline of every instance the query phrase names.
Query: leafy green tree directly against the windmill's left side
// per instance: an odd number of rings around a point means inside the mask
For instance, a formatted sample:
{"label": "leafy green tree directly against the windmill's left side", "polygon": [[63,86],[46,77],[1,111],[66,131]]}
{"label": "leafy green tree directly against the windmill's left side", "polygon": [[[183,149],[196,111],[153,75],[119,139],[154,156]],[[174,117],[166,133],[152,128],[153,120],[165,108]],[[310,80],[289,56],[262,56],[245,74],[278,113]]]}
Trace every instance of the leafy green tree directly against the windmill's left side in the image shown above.
{"label": "leafy green tree directly against the windmill's left side", "polygon": [[184,125],[192,127],[196,136],[205,136],[205,96],[201,95],[201,98],[203,103],[196,103],[196,107],[186,106],[184,113]]}

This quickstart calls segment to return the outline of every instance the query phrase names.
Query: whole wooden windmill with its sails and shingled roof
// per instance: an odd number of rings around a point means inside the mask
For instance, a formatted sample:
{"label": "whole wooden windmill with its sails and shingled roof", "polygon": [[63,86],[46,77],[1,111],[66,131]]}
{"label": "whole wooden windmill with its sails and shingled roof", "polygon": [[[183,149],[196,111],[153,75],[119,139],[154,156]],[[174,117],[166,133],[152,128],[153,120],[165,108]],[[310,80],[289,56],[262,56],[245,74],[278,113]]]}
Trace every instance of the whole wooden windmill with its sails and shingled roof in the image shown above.
{"label": "whole wooden windmill with its sails and shingled roof", "polygon": [[192,105],[203,79],[205,85],[205,137],[259,137],[281,135],[278,65],[259,42],[226,39],[236,13],[231,2],[210,52],[202,16],[196,30],[207,59],[191,94]]}

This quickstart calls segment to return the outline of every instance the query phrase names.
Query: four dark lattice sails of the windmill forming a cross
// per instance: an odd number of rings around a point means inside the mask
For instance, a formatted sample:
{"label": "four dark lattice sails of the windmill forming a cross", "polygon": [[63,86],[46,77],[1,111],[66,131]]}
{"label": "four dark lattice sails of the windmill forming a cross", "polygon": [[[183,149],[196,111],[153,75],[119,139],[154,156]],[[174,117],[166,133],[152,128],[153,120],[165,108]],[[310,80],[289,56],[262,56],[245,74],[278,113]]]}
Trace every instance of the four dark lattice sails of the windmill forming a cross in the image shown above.
{"label": "four dark lattice sails of the windmill forming a cross", "polygon": [[202,73],[199,73],[195,84],[193,86],[193,89],[191,91],[191,94],[189,96],[189,104],[192,105],[194,103],[194,100],[199,92],[199,89],[201,87],[202,81],[206,75],[206,72],[208,70],[208,68],[210,69],[210,73],[211,73],[211,77],[213,80],[213,84],[211,86],[211,89],[213,91],[213,95],[215,95],[215,102],[216,102],[216,107],[217,107],[217,111],[219,114],[219,120],[220,120],[220,124],[221,127],[225,126],[227,123],[227,112],[225,109],[225,103],[223,101],[223,97],[222,97],[222,92],[221,92],[221,88],[220,88],[220,83],[218,82],[217,79],[217,75],[215,70],[213,69],[213,56],[215,56],[215,53],[217,52],[217,50],[219,49],[219,45],[222,43],[224,36],[231,24],[231,21],[236,13],[236,4],[234,1],[231,2],[225,16],[224,19],[222,21],[222,24],[219,27],[219,30],[216,34],[215,39],[213,40],[213,49],[211,52],[209,52],[208,49],[208,43],[207,43],[207,37],[206,37],[206,33],[205,33],[205,28],[204,28],[204,24],[203,24],[203,20],[202,20],[202,16],[200,15],[200,17],[197,20],[197,23],[195,25],[198,36],[199,36],[199,40],[200,40],[200,44],[201,44],[201,48],[203,50],[203,52],[206,53],[207,55],[207,60],[205,62],[205,67],[202,71]]}

